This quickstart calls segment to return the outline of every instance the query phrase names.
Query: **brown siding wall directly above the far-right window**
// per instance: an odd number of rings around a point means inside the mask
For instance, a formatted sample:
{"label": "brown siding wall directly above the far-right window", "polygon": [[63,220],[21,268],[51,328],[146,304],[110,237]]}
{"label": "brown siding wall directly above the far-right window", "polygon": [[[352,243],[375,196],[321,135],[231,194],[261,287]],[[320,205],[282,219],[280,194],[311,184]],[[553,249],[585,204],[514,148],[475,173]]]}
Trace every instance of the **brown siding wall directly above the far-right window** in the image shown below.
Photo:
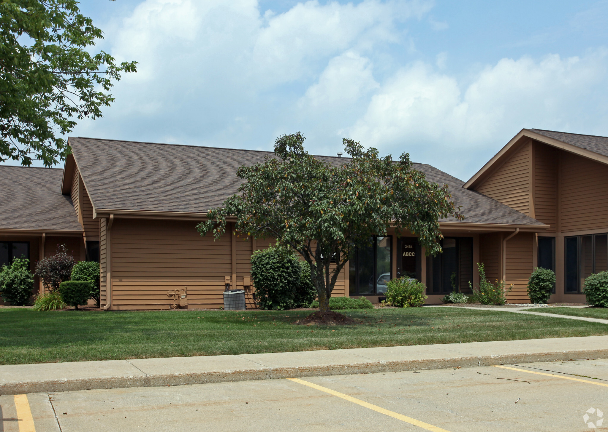
{"label": "brown siding wall directly above the far-right window", "polygon": [[608,228],[608,166],[564,154],[560,180],[561,231]]}

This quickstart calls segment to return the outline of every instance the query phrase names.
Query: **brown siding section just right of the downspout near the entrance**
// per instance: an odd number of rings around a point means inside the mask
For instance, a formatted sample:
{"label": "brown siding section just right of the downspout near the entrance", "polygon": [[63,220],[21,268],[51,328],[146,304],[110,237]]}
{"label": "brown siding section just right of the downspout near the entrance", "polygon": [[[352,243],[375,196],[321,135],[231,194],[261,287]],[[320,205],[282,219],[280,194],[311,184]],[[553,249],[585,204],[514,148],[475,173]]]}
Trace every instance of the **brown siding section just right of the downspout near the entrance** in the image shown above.
{"label": "brown siding section just right of the downspout near the entrance", "polygon": [[[513,285],[510,303],[528,303],[528,279],[532,274],[534,234],[519,233],[506,241],[506,286]],[[494,282],[493,280],[491,282]]]}

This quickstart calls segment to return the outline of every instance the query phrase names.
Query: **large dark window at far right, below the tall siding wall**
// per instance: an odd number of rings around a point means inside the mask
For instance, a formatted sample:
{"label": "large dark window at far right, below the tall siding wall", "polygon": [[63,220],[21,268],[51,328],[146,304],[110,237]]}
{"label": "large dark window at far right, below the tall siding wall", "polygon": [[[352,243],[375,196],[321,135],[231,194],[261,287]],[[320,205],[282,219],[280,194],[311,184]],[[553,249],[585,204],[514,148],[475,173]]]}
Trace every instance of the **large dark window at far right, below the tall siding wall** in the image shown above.
{"label": "large dark window at far right, below the tall siding wall", "polygon": [[608,234],[566,237],[564,243],[565,292],[579,294],[587,277],[608,270]]}

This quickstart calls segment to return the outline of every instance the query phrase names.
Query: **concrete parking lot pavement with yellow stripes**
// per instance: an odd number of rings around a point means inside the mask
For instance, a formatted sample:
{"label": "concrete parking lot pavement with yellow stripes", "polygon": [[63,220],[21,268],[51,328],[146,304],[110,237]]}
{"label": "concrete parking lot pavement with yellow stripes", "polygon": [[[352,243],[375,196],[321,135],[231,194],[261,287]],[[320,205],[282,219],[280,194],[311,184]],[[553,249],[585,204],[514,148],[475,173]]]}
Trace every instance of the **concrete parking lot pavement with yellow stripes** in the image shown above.
{"label": "concrete parking lot pavement with yellow stripes", "polygon": [[23,400],[0,431],[608,430],[608,360],[35,393],[32,428]]}

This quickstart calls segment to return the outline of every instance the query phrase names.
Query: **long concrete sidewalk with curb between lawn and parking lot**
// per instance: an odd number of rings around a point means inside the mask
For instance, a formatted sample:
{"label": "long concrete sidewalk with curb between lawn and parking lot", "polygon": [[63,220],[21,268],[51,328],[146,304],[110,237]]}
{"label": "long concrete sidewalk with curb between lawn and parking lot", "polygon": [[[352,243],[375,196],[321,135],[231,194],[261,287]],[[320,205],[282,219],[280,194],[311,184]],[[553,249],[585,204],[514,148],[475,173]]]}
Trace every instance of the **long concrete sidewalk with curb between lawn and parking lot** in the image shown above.
{"label": "long concrete sidewalk with curb between lawn and parking lot", "polygon": [[608,358],[608,336],[0,366],[0,394]]}

